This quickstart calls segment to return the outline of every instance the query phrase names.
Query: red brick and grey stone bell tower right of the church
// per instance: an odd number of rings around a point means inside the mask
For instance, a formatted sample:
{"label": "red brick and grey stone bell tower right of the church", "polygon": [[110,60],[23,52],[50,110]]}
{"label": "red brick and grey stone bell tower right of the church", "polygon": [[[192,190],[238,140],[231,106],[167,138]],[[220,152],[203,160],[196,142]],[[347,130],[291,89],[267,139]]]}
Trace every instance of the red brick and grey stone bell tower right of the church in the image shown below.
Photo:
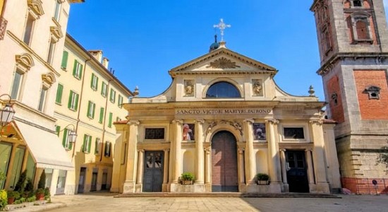
{"label": "red brick and grey stone bell tower right of the church", "polygon": [[[314,0],[322,76],[342,186],[370,193],[385,179],[377,163],[388,143],[388,32],[382,0]],[[377,164],[377,165],[376,165]]]}

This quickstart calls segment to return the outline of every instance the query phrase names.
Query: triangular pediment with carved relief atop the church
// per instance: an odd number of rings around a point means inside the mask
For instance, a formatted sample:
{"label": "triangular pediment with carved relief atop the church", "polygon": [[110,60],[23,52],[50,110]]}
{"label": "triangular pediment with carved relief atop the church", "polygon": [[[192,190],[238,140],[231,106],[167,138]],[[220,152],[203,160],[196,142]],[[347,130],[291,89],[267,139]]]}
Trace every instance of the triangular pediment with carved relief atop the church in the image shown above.
{"label": "triangular pediment with carved relief atop the church", "polygon": [[272,66],[261,63],[242,54],[231,51],[226,48],[219,48],[205,54],[201,57],[188,61],[181,66],[171,69],[172,76],[176,74],[185,74],[193,72],[224,72],[230,71],[234,73],[255,71],[276,73],[277,70]]}

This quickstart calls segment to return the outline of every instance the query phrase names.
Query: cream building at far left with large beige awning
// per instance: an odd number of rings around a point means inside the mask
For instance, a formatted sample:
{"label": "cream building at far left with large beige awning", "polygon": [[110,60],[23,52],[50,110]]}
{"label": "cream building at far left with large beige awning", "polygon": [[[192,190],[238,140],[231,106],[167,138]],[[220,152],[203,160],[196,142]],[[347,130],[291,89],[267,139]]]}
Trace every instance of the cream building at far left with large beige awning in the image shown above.
{"label": "cream building at far left with large beige awning", "polygon": [[[43,170],[51,194],[63,194],[63,175],[73,170],[55,133],[54,99],[70,4],[81,1],[1,1],[0,95],[16,111],[1,128],[0,189],[13,190],[20,172],[37,186]],[[17,12],[16,12],[17,11]],[[8,101],[1,98],[1,105]]]}

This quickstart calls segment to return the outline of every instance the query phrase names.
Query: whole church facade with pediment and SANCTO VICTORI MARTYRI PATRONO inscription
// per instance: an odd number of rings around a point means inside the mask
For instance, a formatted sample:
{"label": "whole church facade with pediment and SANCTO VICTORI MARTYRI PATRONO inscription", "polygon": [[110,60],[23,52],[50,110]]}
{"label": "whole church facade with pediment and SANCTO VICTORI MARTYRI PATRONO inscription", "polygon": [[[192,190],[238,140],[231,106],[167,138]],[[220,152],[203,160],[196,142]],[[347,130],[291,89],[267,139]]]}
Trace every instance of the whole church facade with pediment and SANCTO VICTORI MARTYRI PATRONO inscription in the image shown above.
{"label": "whole church facade with pediment and SANCTO VICTORI MARTYRI PATRONO inscription", "polygon": [[[335,122],[323,119],[325,102],[313,88],[289,95],[274,82],[277,69],[225,42],[211,48],[171,69],[164,93],[123,106],[129,115],[115,123],[111,192],[339,189]],[[181,179],[187,172],[193,184]],[[269,180],[260,183],[258,173]]]}

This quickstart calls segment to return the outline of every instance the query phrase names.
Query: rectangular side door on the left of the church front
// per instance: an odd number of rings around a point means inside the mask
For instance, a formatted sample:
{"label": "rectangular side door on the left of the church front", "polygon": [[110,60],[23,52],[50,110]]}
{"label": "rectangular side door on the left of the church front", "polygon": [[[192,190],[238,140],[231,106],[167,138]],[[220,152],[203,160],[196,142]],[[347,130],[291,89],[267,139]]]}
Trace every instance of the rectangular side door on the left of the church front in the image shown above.
{"label": "rectangular side door on the left of the church front", "polygon": [[163,151],[145,151],[143,192],[162,192]]}

